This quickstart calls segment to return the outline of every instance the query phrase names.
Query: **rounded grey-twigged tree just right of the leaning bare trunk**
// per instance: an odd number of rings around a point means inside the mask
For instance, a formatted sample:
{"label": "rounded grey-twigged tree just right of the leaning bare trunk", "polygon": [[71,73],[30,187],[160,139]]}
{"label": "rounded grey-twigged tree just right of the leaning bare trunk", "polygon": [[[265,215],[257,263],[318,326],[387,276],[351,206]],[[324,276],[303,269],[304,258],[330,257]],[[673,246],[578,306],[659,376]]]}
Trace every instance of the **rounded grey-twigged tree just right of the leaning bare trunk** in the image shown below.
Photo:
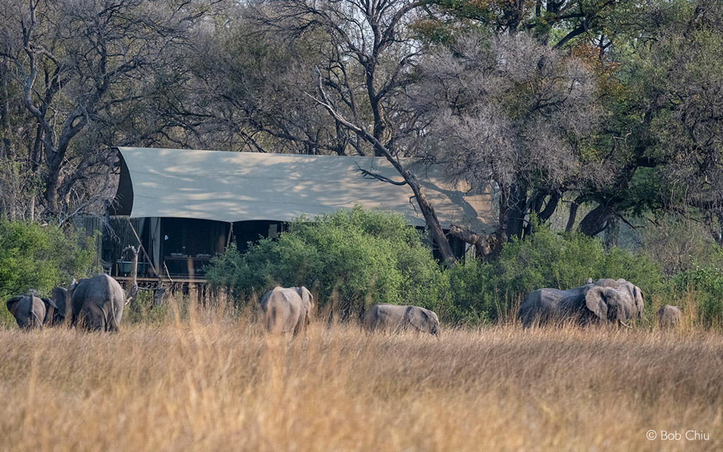
{"label": "rounded grey-twigged tree just right of the leaning bare trunk", "polygon": [[497,190],[490,257],[521,234],[526,213],[547,220],[564,192],[604,184],[607,174],[586,161],[598,108],[580,61],[525,35],[471,35],[437,48],[421,69],[413,102],[428,118],[431,158],[455,181]]}

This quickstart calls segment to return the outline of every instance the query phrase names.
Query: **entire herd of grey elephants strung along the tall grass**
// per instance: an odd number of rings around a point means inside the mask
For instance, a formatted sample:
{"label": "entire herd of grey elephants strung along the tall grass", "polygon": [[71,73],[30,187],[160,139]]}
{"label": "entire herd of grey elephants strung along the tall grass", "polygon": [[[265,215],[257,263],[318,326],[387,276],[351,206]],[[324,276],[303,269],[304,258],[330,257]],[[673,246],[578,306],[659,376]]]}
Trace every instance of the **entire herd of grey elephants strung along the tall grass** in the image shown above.
{"label": "entire herd of grey elephants strung along the tall grass", "polygon": [[[9,299],[7,308],[20,328],[42,328],[43,325],[80,323],[90,331],[118,331],[123,307],[134,294],[129,294],[108,275],[73,280],[68,289],[55,287],[51,298],[38,297],[35,292]],[[553,321],[570,321],[578,325],[609,322],[628,326],[628,320],[643,314],[643,291],[625,279],[589,279],[575,289],[537,289],[525,297],[518,312],[523,327],[544,325]],[[269,333],[296,335],[312,320],[314,297],[306,287],[276,287],[260,302],[260,323]],[[680,322],[682,312],[669,304],[656,318],[661,326]],[[418,306],[375,304],[364,313],[362,326],[367,331],[418,331],[440,335],[440,320],[435,312]]]}

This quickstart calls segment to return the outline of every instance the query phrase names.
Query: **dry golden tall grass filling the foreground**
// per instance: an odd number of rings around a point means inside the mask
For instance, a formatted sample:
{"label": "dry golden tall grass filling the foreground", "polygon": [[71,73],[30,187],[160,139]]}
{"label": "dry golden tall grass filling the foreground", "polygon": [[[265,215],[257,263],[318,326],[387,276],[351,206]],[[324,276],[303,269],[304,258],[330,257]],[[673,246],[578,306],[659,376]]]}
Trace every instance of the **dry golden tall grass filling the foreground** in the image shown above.
{"label": "dry golden tall grass filling the foreground", "polygon": [[115,335],[0,331],[0,448],[723,448],[717,333],[505,326],[437,339],[317,323],[292,339],[244,318],[197,312]]}

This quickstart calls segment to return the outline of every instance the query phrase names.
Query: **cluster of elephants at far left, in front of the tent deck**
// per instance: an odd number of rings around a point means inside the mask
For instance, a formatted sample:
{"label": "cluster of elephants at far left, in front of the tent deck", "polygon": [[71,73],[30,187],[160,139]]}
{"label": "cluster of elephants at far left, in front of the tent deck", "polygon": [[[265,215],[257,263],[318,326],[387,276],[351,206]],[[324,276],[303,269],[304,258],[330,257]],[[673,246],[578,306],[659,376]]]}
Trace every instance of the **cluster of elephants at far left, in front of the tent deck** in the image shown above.
{"label": "cluster of elephants at far left, in front of the tent deck", "polygon": [[13,297],[7,309],[20,328],[43,328],[64,323],[80,324],[90,331],[118,331],[123,307],[132,294],[108,275],[101,274],[80,281],[73,280],[68,289],[56,286],[52,298],[38,297],[35,292]]}

